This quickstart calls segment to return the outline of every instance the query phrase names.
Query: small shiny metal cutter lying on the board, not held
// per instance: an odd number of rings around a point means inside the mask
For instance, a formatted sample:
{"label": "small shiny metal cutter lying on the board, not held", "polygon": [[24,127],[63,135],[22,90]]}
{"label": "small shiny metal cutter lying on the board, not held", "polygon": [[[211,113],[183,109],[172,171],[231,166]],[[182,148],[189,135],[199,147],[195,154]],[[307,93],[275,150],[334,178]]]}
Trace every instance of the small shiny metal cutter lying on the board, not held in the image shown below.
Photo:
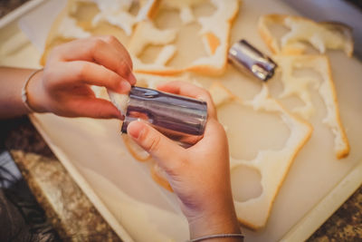
{"label": "small shiny metal cutter lying on the board, not held", "polygon": [[277,64],[269,56],[261,53],[245,40],[233,44],[229,50],[228,58],[239,70],[252,73],[253,76],[263,82],[271,79],[277,67]]}

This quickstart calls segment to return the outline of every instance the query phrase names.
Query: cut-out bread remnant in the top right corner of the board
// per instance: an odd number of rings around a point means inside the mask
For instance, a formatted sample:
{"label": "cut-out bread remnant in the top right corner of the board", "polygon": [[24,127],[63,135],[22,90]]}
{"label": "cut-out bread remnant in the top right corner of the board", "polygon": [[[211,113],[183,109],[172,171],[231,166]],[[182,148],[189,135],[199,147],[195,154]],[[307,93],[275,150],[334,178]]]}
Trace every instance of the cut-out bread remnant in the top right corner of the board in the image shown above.
{"label": "cut-out bread remnant in the top right corner of the board", "polygon": [[[271,25],[280,24],[289,29],[279,39],[271,33]],[[346,24],[314,22],[308,18],[292,15],[262,15],[258,23],[262,39],[273,53],[305,53],[311,44],[319,53],[327,49],[343,50],[350,57],[353,54],[351,28]]]}

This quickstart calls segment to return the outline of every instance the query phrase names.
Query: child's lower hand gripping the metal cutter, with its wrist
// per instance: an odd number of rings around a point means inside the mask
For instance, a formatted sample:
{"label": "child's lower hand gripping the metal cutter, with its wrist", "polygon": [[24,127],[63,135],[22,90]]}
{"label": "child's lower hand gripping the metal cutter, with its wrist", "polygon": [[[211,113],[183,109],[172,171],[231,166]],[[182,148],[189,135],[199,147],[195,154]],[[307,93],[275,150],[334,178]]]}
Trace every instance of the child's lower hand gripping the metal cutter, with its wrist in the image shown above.
{"label": "child's lower hand gripping the metal cutter, with its wrist", "polygon": [[210,94],[186,82],[168,82],[158,89],[207,102],[208,121],[203,139],[185,149],[145,121],[129,123],[129,136],[165,169],[189,221],[191,237],[240,233],[233,208],[228,144]]}

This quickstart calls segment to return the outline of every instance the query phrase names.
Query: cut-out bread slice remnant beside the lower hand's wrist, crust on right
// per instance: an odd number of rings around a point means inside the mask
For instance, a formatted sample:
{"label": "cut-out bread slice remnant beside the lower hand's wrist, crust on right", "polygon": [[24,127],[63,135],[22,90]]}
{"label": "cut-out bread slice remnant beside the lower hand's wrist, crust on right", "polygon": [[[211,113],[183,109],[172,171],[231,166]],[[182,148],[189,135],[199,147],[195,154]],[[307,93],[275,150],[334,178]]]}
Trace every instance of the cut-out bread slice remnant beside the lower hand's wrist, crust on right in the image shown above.
{"label": "cut-out bread slice remnant beside the lower hand's wrist, crust on right", "polygon": [[[238,102],[240,105],[251,107],[255,111],[277,112],[291,131],[290,137],[281,150],[259,150],[253,160],[237,160],[233,157],[230,160],[232,174],[233,169],[240,166],[260,171],[262,194],[257,198],[250,198],[243,202],[234,199],[234,205],[237,218],[244,226],[252,229],[265,227],[282,181],[285,179],[297,153],[309,140],[312,127],[308,122],[302,121],[286,111],[279,102],[271,99],[266,84],[263,84],[262,91],[251,101],[243,101],[237,96],[229,97],[232,92],[228,91],[221,83],[214,84],[211,89],[215,103]],[[225,93],[227,95],[224,95]],[[225,96],[226,99],[221,98]],[[218,102],[218,100],[223,102]],[[232,184],[232,186],[238,186],[238,184]]]}

